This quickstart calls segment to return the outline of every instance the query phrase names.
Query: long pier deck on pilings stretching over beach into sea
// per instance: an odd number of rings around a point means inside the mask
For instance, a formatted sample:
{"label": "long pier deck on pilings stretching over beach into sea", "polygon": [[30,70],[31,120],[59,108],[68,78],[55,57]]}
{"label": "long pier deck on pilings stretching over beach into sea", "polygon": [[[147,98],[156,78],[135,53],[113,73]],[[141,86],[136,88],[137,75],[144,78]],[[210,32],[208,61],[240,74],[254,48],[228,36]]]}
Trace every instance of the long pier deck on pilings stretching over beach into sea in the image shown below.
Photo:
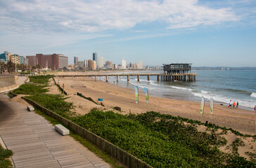
{"label": "long pier deck on pilings stretching over beach into sea", "polygon": [[97,73],[97,74],[78,74],[78,75],[56,75],[58,77],[70,77],[72,80],[75,80],[76,77],[92,77],[96,81],[96,77],[105,76],[105,81],[108,82],[108,77],[115,76],[118,82],[119,76],[127,76],[127,81],[129,82],[130,76],[137,76],[139,81],[140,76],[147,76],[148,80],[151,79],[151,76],[157,76],[158,81],[195,81],[196,73]]}

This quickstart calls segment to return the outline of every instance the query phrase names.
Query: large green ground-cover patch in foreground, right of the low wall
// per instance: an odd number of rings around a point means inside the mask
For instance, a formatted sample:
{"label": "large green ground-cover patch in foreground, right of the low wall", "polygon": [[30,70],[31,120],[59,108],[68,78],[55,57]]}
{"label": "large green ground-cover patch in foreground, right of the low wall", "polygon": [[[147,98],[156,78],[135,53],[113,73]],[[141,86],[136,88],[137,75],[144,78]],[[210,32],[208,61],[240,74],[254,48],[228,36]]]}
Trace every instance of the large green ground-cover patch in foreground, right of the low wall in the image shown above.
{"label": "large green ground-cover patch in foreground, right of the low wall", "polygon": [[219,151],[217,146],[226,144],[225,139],[198,132],[193,125],[168,116],[91,111],[72,120],[153,167],[255,166],[243,157]]}

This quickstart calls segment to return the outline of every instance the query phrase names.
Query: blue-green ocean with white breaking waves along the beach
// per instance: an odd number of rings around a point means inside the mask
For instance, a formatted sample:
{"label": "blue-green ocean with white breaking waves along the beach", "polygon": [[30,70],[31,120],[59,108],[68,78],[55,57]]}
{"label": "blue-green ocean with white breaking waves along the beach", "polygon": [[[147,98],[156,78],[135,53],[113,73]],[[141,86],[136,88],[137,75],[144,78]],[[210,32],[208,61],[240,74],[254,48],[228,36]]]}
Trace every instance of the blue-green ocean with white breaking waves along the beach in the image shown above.
{"label": "blue-green ocean with white breaking waves along the beach", "polygon": [[[124,73],[129,73],[125,72]],[[131,73],[131,72],[130,72]],[[162,73],[162,71],[132,71],[132,73]],[[206,102],[214,99],[215,103],[229,104],[229,101],[239,102],[239,106],[253,110],[256,105],[256,71],[191,71],[197,73],[196,81],[157,81],[156,76],[130,76],[127,82],[126,76],[120,76],[119,82],[115,77],[108,78],[109,83],[120,87],[128,87],[134,90],[138,86],[140,91],[143,87],[148,89],[149,95],[156,97],[167,97],[172,99],[183,99],[200,102],[205,97]],[[105,80],[101,77],[101,80]]]}

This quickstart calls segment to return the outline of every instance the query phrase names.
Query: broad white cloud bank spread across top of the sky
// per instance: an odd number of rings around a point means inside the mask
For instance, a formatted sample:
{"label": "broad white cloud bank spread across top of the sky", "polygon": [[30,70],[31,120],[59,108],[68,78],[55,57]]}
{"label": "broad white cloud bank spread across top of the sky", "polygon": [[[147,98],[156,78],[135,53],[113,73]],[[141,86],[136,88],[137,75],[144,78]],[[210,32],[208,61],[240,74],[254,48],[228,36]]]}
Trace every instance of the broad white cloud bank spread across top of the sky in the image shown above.
{"label": "broad white cloud bank spread across top of the sky", "polygon": [[197,0],[8,0],[0,4],[2,32],[96,32],[158,20],[174,29],[240,19],[231,8],[200,6]]}

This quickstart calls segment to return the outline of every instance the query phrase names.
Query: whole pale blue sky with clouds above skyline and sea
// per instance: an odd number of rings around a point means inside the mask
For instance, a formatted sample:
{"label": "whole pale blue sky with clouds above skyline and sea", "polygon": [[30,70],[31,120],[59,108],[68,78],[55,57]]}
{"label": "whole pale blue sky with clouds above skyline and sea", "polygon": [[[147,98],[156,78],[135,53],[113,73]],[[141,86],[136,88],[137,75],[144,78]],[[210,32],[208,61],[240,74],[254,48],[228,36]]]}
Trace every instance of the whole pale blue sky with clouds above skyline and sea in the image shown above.
{"label": "whole pale blue sky with clouds above skyline and sea", "polygon": [[256,0],[0,0],[0,52],[256,66]]}

